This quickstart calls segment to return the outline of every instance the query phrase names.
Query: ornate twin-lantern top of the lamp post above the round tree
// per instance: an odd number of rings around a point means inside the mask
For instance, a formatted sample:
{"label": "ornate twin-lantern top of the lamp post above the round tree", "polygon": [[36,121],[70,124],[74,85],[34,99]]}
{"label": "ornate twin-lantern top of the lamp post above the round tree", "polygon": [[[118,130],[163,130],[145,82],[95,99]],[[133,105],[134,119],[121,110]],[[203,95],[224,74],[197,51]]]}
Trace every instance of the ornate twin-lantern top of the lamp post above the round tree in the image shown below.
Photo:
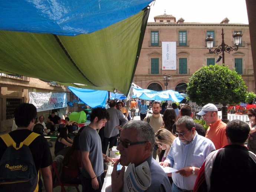
{"label": "ornate twin-lantern top of the lamp post above the round tree", "polygon": [[223,63],[223,65],[225,64],[225,52],[230,53],[232,51],[237,51],[239,44],[242,43],[242,36],[243,35],[241,33],[236,32],[232,36],[233,36],[234,44],[236,45],[236,48],[228,46],[227,44],[224,43],[224,32],[223,32],[223,28],[222,28],[222,33],[221,33],[222,42],[219,45],[219,47],[217,47],[213,51],[211,50],[213,48],[213,40],[214,40],[213,37],[211,37],[211,35],[208,35],[208,37],[205,39],[206,46],[207,46],[207,49],[209,49],[210,54],[212,54],[212,53],[219,54],[219,53],[222,52],[222,63]]}

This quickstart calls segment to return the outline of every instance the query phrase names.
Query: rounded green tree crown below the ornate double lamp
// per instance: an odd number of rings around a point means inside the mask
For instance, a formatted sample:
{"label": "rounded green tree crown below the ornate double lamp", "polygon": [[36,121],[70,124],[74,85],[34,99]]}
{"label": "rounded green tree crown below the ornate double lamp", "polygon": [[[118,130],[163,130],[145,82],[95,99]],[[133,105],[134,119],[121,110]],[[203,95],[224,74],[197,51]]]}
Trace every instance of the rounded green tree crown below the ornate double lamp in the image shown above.
{"label": "rounded green tree crown below the ornate double lamp", "polygon": [[190,78],[187,95],[197,105],[239,103],[246,98],[246,85],[240,75],[227,66],[203,66]]}

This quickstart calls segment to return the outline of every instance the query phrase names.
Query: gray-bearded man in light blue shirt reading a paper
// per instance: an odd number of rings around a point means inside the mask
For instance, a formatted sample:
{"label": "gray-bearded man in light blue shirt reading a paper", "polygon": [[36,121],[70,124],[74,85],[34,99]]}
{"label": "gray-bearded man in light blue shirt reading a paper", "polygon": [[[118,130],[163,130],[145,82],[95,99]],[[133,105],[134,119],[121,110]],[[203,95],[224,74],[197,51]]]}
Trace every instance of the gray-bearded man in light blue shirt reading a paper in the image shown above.
{"label": "gray-bearded man in light blue shirt reading a paper", "polygon": [[197,174],[206,157],[215,150],[210,139],[198,135],[194,120],[182,116],[176,122],[176,135],[171,149],[162,166],[170,166],[178,171],[172,173],[173,192],[193,192]]}

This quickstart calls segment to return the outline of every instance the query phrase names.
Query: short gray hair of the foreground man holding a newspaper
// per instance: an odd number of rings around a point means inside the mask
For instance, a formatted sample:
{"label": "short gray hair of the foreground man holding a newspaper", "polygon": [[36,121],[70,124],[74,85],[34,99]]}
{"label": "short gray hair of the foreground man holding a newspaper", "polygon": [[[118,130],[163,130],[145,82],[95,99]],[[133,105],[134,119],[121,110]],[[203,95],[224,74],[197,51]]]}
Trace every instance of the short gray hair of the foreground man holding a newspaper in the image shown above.
{"label": "short gray hair of the foreground man holding a newspaper", "polygon": [[155,144],[155,132],[147,122],[141,120],[129,121],[128,123],[125,123],[123,129],[137,130],[138,141],[149,141],[151,143],[151,153],[153,152]]}

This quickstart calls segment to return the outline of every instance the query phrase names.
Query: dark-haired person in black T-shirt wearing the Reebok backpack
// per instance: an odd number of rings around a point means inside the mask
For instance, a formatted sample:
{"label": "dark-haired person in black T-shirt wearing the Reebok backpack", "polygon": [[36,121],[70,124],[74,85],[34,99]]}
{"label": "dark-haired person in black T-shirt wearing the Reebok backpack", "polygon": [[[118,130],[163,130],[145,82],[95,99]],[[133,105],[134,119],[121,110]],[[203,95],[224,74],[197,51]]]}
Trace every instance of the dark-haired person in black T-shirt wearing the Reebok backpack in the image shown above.
{"label": "dark-haired person in black T-shirt wearing the Reebok backpack", "polygon": [[47,140],[30,130],[36,113],[34,105],[20,104],[14,110],[18,128],[0,136],[0,191],[37,192],[40,169],[46,192],[52,192],[52,155]]}

